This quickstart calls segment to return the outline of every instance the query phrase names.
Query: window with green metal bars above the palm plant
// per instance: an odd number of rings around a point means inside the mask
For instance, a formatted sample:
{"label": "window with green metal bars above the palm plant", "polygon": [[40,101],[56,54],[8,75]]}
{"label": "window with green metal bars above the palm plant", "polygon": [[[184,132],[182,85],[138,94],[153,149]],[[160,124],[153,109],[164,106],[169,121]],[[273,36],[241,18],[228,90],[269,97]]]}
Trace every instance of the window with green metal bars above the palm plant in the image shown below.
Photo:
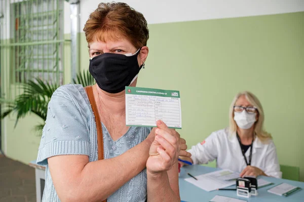
{"label": "window with green metal bars above the palm plant", "polygon": [[0,34],[10,30],[0,39],[0,66],[8,72],[15,94],[18,84],[35,78],[63,84],[63,3],[0,0],[0,16],[9,15],[0,18]]}

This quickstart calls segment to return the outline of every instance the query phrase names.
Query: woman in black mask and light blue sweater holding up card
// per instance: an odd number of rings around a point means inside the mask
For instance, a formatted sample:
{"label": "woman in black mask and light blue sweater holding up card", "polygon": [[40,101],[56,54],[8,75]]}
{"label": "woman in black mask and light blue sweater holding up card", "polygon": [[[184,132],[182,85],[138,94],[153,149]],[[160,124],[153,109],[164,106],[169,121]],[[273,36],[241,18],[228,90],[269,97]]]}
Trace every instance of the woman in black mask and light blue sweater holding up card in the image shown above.
{"label": "woman in black mask and light blue sweater holding up card", "polygon": [[128,127],[125,86],[136,86],[148,56],[147,22],[124,3],[101,3],[84,28],[103,132],[81,85],[58,88],[49,103],[37,163],[46,166],[43,201],[180,201],[178,156],[184,139],[162,121]]}

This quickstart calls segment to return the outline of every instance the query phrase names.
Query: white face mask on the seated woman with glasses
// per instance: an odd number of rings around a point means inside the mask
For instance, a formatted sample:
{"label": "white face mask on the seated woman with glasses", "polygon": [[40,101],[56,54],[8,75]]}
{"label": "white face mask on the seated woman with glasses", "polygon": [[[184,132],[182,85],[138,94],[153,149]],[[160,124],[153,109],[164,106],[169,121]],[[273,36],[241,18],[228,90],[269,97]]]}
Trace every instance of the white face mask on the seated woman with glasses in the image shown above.
{"label": "white face mask on the seated woman with glasses", "polygon": [[234,115],[233,119],[236,121],[239,128],[249,129],[255,123],[256,113],[249,114],[246,110],[243,110],[243,112],[234,112]]}

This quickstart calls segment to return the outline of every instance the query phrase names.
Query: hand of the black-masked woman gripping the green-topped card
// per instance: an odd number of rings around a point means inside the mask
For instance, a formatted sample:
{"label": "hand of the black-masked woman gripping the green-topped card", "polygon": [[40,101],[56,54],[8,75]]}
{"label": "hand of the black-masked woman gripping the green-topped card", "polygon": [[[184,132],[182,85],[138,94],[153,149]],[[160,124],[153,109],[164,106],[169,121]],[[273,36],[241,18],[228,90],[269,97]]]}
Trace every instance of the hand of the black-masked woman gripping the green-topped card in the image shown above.
{"label": "hand of the black-masked woman gripping the green-topped card", "polygon": [[147,171],[153,174],[170,170],[177,162],[180,151],[184,156],[190,155],[184,150],[185,141],[174,129],[169,129],[162,121],[157,122],[157,127],[146,163]]}

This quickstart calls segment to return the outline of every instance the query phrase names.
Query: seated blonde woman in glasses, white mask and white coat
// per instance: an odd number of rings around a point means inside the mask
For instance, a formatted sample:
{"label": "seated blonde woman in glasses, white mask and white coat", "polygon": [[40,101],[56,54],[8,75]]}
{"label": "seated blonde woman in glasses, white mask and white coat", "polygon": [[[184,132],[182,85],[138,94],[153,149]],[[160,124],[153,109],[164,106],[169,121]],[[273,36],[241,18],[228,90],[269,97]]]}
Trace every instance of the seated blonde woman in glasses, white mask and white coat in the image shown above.
{"label": "seated blonde woman in glasses, white mask and white coat", "polygon": [[263,130],[264,112],[257,97],[238,93],[230,107],[230,127],[213,132],[206,140],[192,146],[194,164],[216,160],[217,167],[239,172],[240,176],[281,178],[276,147],[272,136]]}

